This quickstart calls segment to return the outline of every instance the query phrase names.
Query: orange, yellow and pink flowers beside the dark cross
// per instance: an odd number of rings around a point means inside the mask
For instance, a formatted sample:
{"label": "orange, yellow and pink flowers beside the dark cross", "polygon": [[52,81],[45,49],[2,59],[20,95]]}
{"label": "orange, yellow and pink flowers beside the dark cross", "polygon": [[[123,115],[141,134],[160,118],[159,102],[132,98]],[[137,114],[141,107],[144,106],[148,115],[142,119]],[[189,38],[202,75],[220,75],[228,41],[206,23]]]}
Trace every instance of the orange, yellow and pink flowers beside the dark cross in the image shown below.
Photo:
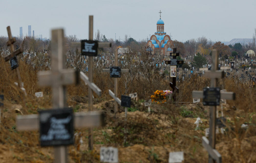
{"label": "orange, yellow and pink flowers beside the dark cross", "polygon": [[151,101],[157,104],[165,103],[167,98],[172,94],[170,90],[156,90],[154,95],[151,95]]}

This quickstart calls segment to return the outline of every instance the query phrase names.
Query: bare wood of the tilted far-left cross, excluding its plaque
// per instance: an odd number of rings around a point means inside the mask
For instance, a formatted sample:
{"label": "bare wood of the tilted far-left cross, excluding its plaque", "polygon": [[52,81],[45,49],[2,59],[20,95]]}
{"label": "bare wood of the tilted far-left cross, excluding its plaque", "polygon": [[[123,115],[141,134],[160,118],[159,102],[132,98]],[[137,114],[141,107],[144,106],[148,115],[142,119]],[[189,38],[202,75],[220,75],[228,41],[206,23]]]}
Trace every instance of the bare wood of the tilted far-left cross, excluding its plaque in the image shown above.
{"label": "bare wood of the tilted far-left cross, excluding its plaque", "polygon": [[[6,42],[6,44],[7,44],[7,46],[10,46],[11,53],[4,58],[5,61],[9,61],[11,58],[16,57],[17,55],[19,55],[20,53],[23,52],[22,47],[20,47],[17,50],[14,49],[13,43],[16,42],[16,39],[15,39],[15,37],[12,37],[12,32],[11,32],[10,26],[7,27],[7,33],[8,33],[9,40]],[[19,83],[18,83],[19,87],[22,89],[24,95],[27,96],[26,90],[23,88],[23,86],[21,84],[22,82],[21,82],[21,77],[20,77],[20,73],[19,73],[19,68],[16,67],[15,69],[16,69],[16,74],[17,74],[18,81],[19,81]]]}

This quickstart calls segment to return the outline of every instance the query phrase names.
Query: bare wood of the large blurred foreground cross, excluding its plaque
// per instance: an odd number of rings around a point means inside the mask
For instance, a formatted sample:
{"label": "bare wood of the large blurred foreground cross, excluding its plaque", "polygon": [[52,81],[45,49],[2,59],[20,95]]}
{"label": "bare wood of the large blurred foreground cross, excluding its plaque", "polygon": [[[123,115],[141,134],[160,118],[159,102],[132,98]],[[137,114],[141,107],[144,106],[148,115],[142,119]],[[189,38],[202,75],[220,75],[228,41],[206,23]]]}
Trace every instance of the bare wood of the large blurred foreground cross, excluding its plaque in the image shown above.
{"label": "bare wood of the large blurred foreground cross, excluding its plaque", "polygon": [[[38,73],[40,86],[52,87],[52,107],[64,108],[66,104],[66,86],[76,83],[78,74],[74,69],[65,69],[64,31],[52,30],[51,40],[51,70]],[[74,113],[74,127],[96,127],[103,123],[102,112]],[[17,130],[38,130],[39,118],[37,114],[18,115]],[[67,147],[55,147],[55,163],[67,163]]]}

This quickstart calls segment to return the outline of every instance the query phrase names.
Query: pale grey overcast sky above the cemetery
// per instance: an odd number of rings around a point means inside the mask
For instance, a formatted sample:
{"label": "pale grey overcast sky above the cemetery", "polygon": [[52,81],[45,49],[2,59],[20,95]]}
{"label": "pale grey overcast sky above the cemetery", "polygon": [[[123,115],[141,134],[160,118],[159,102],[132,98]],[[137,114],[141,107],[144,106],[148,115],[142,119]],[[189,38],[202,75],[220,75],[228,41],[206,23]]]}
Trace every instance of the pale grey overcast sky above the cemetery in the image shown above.
{"label": "pale grey overcast sky above the cemetery", "polygon": [[50,38],[52,28],[62,27],[66,35],[88,39],[88,17],[94,16],[93,31],[106,38],[121,39],[127,34],[136,40],[156,32],[156,22],[164,21],[164,31],[172,40],[186,41],[205,36],[212,41],[252,38],[256,28],[256,0],[0,0],[0,35],[14,36],[28,25],[35,36]]}

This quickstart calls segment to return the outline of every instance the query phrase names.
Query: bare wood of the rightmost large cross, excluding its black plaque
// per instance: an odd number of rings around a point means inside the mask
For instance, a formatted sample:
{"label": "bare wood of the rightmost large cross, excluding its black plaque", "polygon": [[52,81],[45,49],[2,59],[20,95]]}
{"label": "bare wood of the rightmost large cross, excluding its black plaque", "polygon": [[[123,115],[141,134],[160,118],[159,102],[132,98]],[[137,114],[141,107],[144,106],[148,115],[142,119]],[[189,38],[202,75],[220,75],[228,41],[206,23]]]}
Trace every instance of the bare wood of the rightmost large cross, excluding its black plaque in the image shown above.
{"label": "bare wood of the rightmost large cross, excluding its black plaque", "polygon": [[[217,85],[217,78],[224,77],[223,71],[218,70],[218,52],[216,49],[212,50],[212,65],[211,70],[205,72],[205,76],[211,78],[211,88],[215,88]],[[193,98],[204,98],[203,91],[193,91]],[[233,92],[220,92],[220,99],[234,100],[235,94]],[[204,101],[204,100],[203,100]],[[208,162],[221,163],[221,155],[215,149],[215,132],[216,132],[216,105],[210,106],[210,130],[209,130],[209,141],[203,136],[202,144],[209,153]]]}

